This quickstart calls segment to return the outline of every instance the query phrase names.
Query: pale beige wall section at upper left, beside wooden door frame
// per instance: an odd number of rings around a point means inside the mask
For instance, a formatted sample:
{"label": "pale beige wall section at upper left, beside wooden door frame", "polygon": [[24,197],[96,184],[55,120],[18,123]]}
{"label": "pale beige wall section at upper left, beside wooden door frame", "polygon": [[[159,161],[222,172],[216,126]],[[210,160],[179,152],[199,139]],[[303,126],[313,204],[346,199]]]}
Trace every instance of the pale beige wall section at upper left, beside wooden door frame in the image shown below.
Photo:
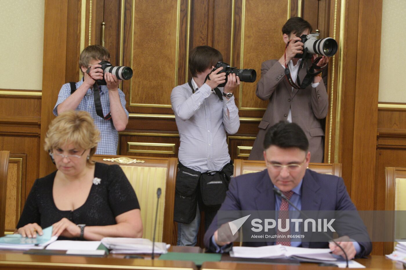
{"label": "pale beige wall section at upper left, beside wooden door frame", "polygon": [[0,89],[42,88],[44,0],[0,0]]}

